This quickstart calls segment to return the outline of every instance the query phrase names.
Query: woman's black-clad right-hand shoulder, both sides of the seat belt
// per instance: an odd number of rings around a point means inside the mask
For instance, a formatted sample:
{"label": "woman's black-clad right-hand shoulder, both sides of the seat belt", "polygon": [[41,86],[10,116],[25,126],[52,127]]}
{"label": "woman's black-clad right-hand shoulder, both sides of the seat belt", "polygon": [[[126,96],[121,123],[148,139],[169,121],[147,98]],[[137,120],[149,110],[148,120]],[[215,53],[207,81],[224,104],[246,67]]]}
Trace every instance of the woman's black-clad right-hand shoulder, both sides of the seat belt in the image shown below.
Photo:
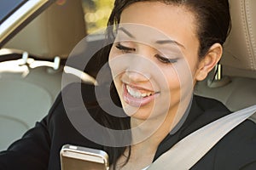
{"label": "woman's black-clad right-hand shoulder, both sides of the seat belt", "polygon": [[[189,126],[190,132],[231,113],[216,99],[195,96],[195,103],[201,109],[201,115]],[[218,141],[203,160],[210,159],[214,169],[256,169],[255,150],[256,124],[246,120]]]}

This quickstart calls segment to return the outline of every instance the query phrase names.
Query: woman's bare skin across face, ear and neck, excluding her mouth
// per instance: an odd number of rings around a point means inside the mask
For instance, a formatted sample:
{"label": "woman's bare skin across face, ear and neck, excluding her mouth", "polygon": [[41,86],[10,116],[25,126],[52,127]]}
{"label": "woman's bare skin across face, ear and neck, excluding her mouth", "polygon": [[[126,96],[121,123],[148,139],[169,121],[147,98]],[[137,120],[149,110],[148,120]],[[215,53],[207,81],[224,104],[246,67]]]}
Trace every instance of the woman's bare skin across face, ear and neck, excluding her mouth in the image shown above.
{"label": "woman's bare skin across face, ear and neck, excluding her mouth", "polygon": [[[109,65],[125,113],[131,116],[131,127],[137,127],[133,138],[139,138],[142,134],[148,136],[131,145],[130,161],[125,167],[118,168],[142,169],[153,161],[158,145],[183,116],[178,112],[179,105],[183,100],[188,105],[190,98],[183,96],[181,91],[188,90],[189,93],[189,89],[193,89],[197,81],[205,79],[218,63],[222,54],[222,46],[218,43],[213,44],[206,56],[199,60],[194,16],[186,7],[160,2],[133,3],[122,12],[120,24],[139,26],[124,26],[125,31],[118,31],[109,54]],[[144,30],[144,26],[149,26],[149,29]],[[157,43],[166,39],[175,43]],[[156,54],[175,62],[164,63]],[[112,62],[122,55],[126,56],[123,60]],[[188,72],[184,70],[189,71],[188,77]],[[154,92],[154,99],[141,107],[131,105],[124,97],[126,84],[141,93]],[[184,88],[185,84],[190,85]],[[162,104],[167,100],[170,105],[165,107]],[[181,112],[185,109],[183,107]],[[146,126],[143,126],[143,122],[147,122]],[[125,156],[122,156],[119,165],[124,161]]]}

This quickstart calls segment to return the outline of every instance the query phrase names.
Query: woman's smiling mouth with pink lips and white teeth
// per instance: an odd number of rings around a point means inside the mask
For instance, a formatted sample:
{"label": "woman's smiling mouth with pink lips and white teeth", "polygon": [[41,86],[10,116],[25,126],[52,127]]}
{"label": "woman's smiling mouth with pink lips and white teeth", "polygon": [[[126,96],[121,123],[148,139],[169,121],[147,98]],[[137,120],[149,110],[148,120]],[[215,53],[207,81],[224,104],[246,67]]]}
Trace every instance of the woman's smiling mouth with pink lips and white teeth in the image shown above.
{"label": "woman's smiling mouth with pink lips and white teeth", "polygon": [[131,87],[124,84],[124,100],[128,105],[140,107],[152,102],[159,92],[148,91],[142,88]]}

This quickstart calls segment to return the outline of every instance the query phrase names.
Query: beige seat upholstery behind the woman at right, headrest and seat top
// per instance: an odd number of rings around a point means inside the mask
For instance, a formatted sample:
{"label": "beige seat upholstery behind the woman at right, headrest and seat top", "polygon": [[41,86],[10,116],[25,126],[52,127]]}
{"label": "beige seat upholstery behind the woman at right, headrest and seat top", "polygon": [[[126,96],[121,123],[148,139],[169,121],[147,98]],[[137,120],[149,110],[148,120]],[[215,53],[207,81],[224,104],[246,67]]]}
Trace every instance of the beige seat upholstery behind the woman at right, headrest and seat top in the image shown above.
{"label": "beige seat upholstery behind the woman at right, headrest and seat top", "polygon": [[230,0],[230,13],[232,30],[221,59],[224,77],[217,81],[229,78],[230,83],[210,88],[208,80],[199,82],[195,94],[218,99],[230,111],[238,111],[256,105],[256,1]]}

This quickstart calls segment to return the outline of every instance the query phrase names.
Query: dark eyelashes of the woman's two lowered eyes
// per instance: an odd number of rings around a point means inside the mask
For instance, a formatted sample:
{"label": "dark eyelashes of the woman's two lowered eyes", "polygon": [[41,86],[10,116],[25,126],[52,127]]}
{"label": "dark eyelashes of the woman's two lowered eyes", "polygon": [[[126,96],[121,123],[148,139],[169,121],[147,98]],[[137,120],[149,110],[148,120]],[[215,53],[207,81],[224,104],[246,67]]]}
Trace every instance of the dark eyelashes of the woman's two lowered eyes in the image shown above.
{"label": "dark eyelashes of the woman's two lowered eyes", "polygon": [[[136,48],[128,48],[128,47],[121,45],[120,43],[118,43],[115,47],[118,48],[123,53],[132,53],[132,52],[136,51]],[[160,62],[162,62],[164,64],[170,64],[170,63],[177,62],[177,59],[168,59],[166,57],[161,56],[160,54],[155,54],[154,57],[157,58]]]}

